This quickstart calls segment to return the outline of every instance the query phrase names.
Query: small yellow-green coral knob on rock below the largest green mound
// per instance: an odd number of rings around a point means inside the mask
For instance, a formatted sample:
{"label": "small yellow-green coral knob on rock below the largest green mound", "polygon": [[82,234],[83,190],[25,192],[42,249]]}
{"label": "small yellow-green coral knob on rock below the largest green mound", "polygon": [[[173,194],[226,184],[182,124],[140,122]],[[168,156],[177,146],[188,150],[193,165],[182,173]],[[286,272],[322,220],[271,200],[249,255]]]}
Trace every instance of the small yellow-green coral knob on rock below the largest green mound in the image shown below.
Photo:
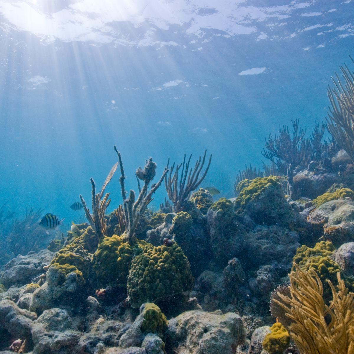
{"label": "small yellow-green coral knob on rock below the largest green mound", "polygon": [[152,302],[147,302],[144,306],[141,330],[145,333],[159,333],[161,335],[167,327],[166,316]]}

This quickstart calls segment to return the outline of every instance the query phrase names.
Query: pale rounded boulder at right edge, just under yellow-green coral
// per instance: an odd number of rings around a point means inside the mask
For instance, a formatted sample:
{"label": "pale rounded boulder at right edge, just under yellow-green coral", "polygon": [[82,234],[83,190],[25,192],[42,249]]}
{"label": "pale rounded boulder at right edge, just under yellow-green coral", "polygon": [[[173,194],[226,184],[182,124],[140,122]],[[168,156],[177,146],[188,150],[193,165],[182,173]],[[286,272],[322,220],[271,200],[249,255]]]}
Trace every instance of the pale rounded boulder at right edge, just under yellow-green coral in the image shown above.
{"label": "pale rounded boulder at right edge, just under yellow-green coral", "polygon": [[[326,235],[336,247],[354,241],[354,201],[346,199],[330,200],[310,213],[307,221],[320,237],[323,230],[332,227],[333,238]],[[337,232],[333,232],[337,228]],[[329,231],[329,230],[327,230]],[[335,239],[338,238],[338,239]]]}

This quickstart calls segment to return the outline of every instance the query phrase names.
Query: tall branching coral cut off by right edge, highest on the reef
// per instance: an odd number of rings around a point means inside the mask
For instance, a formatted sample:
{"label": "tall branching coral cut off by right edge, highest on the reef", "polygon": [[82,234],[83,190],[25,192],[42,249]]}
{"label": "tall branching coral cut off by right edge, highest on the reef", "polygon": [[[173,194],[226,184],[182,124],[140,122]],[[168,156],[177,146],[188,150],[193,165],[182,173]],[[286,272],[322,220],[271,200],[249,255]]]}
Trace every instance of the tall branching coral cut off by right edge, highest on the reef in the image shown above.
{"label": "tall branching coral cut off by right edge, highest on the reef", "polygon": [[327,91],[331,103],[327,128],[354,162],[354,72],[346,64],[340,70],[344,84],[336,74],[337,80],[332,78],[336,88]]}

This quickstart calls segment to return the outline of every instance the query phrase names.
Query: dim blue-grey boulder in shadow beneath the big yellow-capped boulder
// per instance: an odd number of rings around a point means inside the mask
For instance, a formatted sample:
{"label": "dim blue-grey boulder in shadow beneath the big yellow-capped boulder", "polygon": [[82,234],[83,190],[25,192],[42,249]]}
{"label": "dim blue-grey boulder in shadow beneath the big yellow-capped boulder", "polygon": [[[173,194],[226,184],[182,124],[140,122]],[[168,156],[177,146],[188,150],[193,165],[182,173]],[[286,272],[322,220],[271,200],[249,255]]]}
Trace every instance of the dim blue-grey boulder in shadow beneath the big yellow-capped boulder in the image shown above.
{"label": "dim blue-grey boulder in shadow beneath the big yellow-capped boulder", "polygon": [[285,273],[299,244],[299,234],[279,226],[258,226],[245,238],[245,252],[239,256],[246,269],[272,264]]}

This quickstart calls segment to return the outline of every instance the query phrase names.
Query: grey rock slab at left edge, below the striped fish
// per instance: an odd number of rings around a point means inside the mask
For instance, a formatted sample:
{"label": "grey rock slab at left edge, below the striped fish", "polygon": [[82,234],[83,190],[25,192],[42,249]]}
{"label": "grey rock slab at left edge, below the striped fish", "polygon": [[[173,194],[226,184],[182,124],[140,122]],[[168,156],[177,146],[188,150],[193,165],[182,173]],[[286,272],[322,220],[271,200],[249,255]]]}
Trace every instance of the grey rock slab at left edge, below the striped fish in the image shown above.
{"label": "grey rock slab at left edge, below the striped fish", "polygon": [[10,287],[15,284],[22,286],[30,283],[32,278],[45,273],[43,267],[50,264],[54,256],[55,253],[48,250],[30,253],[27,256],[18,255],[5,265],[0,284]]}

